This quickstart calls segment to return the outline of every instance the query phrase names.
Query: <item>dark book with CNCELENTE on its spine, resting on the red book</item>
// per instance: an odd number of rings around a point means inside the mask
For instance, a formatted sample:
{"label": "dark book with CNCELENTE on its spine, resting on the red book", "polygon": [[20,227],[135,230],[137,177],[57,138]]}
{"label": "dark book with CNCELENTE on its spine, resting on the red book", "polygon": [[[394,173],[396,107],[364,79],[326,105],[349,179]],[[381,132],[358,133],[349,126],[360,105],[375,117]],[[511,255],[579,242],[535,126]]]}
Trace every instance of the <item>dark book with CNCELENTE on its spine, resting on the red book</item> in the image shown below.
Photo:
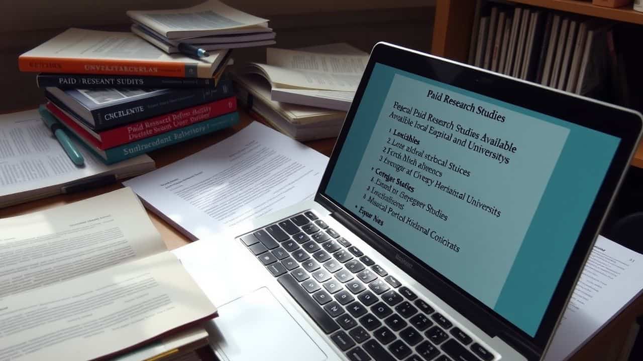
{"label": "dark book with CNCELENTE on its spine, resting on the red book", "polygon": [[195,89],[60,89],[48,87],[45,96],[69,109],[93,130],[104,130],[194,107],[234,94],[229,78],[214,88]]}

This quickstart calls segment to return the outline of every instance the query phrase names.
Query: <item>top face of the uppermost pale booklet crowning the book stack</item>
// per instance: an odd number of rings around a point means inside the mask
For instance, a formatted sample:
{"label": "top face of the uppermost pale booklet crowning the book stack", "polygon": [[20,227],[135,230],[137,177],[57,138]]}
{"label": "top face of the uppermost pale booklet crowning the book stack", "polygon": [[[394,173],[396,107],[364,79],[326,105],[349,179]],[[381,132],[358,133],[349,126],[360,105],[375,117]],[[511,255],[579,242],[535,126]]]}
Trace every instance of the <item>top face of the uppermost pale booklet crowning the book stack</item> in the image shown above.
{"label": "top face of the uppermost pale booklet crowning the book stack", "polygon": [[267,19],[231,8],[218,0],[208,0],[191,8],[130,10],[127,16],[169,39],[228,33],[226,30],[257,26],[266,27],[268,22]]}

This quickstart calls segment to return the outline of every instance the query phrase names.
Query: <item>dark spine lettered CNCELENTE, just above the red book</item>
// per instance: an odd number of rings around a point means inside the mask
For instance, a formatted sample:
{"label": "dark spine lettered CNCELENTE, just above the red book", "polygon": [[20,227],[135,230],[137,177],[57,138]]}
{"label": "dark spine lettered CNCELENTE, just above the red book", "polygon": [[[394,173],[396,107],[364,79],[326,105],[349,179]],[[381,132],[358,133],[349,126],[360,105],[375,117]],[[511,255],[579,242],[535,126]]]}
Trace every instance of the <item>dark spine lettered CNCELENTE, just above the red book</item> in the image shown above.
{"label": "dark spine lettered CNCELENTE, just above the red book", "polygon": [[141,119],[152,118],[159,114],[174,112],[177,109],[194,107],[210,101],[228,98],[233,95],[230,80],[222,80],[212,89],[185,89],[163,92],[158,96],[116,104],[111,107],[92,110],[94,130],[117,127]]}

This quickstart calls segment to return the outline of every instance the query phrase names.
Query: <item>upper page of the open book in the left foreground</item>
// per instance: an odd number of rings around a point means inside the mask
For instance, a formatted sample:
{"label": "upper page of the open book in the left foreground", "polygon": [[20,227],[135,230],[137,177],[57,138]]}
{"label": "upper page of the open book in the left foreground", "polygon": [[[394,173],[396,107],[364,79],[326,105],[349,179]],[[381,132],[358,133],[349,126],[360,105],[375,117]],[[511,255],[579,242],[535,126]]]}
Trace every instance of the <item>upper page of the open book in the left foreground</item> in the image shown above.
{"label": "upper page of the open book in the left foreground", "polygon": [[0,219],[0,229],[0,314],[21,292],[167,250],[129,188]]}

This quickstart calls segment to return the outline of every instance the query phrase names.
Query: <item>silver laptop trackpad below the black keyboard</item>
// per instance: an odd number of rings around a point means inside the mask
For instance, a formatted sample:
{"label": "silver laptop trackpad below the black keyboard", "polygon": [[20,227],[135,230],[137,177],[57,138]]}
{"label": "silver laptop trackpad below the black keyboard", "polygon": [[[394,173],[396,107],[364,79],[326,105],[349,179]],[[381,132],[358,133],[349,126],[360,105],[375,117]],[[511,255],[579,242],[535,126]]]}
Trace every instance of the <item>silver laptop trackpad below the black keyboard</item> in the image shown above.
{"label": "silver laptop trackpad below the black keyboard", "polygon": [[230,361],[327,359],[266,287],[219,307],[208,332]]}

